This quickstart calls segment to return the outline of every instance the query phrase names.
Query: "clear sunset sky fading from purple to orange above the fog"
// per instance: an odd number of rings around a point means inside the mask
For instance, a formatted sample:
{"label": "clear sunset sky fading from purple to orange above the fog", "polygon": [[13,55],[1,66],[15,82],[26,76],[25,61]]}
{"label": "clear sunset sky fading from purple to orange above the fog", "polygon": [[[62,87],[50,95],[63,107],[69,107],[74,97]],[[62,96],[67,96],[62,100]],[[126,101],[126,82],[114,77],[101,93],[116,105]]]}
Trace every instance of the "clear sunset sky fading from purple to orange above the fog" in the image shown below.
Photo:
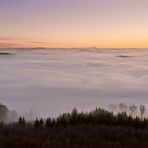
{"label": "clear sunset sky fading from purple to orange above the fog", "polygon": [[148,0],[0,0],[0,48],[147,48]]}

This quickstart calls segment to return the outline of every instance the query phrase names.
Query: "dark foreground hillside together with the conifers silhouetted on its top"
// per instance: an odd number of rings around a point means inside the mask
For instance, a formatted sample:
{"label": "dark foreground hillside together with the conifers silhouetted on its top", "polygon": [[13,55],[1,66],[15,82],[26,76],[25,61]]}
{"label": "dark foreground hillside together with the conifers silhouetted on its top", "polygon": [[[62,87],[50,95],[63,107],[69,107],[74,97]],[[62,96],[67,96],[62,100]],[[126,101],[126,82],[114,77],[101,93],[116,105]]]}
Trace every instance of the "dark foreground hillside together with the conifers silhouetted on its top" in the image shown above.
{"label": "dark foreground hillside together with the conifers silhouetted on its top", "polygon": [[141,111],[140,118],[100,108],[30,123],[20,117],[1,122],[0,148],[148,148],[148,119]]}

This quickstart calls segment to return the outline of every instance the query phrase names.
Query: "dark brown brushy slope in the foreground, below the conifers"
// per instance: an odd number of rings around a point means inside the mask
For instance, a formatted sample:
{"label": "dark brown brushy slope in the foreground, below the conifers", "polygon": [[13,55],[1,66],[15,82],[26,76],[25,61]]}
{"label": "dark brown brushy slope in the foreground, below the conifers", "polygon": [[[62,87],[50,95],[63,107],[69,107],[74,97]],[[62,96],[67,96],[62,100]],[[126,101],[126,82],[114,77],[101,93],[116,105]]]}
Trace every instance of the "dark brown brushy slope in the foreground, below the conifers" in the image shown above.
{"label": "dark brown brushy slope in the foreground, below the conifers", "polygon": [[69,125],[46,129],[0,128],[0,148],[147,148],[148,129]]}

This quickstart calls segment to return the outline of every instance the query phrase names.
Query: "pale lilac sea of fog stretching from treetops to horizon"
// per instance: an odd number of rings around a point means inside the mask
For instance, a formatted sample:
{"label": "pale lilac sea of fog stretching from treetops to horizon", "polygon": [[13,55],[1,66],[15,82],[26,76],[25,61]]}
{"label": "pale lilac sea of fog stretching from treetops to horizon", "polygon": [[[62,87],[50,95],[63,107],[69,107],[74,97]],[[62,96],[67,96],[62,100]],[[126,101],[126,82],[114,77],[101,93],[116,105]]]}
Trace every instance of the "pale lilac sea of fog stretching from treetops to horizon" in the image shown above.
{"label": "pale lilac sea of fog stretching from treetops to horizon", "polygon": [[34,117],[148,107],[148,49],[0,49],[0,102]]}

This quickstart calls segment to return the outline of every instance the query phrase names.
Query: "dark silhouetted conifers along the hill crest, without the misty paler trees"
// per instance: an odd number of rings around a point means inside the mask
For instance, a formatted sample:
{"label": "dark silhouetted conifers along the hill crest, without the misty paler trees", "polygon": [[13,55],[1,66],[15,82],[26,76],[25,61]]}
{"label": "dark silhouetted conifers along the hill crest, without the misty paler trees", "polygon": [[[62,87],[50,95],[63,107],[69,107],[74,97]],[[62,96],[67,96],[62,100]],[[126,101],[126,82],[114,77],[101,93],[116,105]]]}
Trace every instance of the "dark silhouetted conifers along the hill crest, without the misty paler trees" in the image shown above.
{"label": "dark silhouetted conifers along the hill crest, without the misty paler trees", "polygon": [[[131,114],[127,114],[126,111],[118,112],[114,114],[111,111],[95,108],[90,112],[78,112],[74,108],[71,112],[63,113],[57,118],[38,119],[36,118],[31,125],[34,128],[52,128],[52,127],[66,127],[68,125],[107,125],[107,126],[123,126],[134,128],[147,128],[148,118],[143,117],[144,110],[140,105],[141,117],[133,117]],[[24,117],[20,117],[18,125],[27,126]]]}

